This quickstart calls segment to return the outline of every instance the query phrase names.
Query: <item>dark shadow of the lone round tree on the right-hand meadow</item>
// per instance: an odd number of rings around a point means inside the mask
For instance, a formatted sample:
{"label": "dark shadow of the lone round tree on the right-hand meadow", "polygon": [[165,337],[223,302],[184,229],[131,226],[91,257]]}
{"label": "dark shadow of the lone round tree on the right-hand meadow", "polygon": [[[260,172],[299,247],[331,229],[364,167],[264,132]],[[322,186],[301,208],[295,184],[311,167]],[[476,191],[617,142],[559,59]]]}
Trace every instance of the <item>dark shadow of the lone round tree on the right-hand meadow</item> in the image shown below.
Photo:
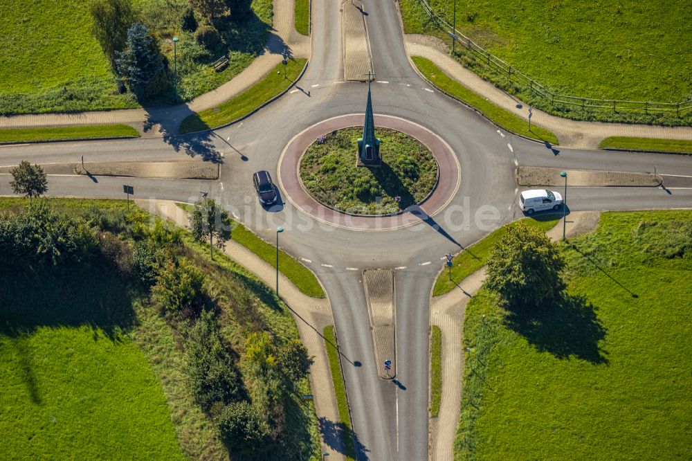
{"label": "dark shadow of the lone round tree on the right-hand meadow", "polygon": [[561,293],[557,299],[538,307],[511,307],[505,324],[540,352],[549,352],[558,359],[576,357],[608,364],[601,348],[607,330],[597,310],[583,296]]}

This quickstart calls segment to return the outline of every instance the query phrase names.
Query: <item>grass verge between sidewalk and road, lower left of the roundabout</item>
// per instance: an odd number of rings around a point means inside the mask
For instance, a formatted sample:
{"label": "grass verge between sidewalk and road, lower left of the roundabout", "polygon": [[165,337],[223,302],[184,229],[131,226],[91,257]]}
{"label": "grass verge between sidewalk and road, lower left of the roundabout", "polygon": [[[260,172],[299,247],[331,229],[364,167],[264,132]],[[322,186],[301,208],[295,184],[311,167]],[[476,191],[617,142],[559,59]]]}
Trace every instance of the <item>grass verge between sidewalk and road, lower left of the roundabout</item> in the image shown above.
{"label": "grass verge between sidewalk and road, lower left of the roundabout", "polygon": [[[194,206],[190,204],[176,202],[176,205],[188,213],[191,213],[192,208],[194,208]],[[267,264],[271,264],[274,268],[276,267],[275,246],[257,237],[255,233],[237,221],[233,221],[233,233],[231,235],[231,238],[233,238],[235,242],[248,248],[248,250],[255,253],[255,255],[259,256]],[[318,282],[312,271],[300,264],[298,260],[295,260],[293,256],[283,250],[279,250],[279,271],[286,275],[286,278],[291,280],[301,293],[311,296],[312,298],[325,297],[325,291],[322,290],[322,285],[320,285],[320,282]]]}

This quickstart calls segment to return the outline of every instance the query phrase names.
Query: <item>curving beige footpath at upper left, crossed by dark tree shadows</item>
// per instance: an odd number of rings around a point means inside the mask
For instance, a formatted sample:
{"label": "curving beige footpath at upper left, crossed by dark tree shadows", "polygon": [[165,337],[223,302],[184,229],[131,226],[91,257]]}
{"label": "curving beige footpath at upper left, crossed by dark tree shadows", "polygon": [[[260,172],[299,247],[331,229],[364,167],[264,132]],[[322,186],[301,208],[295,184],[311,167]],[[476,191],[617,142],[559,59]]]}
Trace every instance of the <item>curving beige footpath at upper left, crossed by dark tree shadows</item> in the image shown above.
{"label": "curving beige footpath at upper left, crossed by dark tree shadows", "polygon": [[293,26],[293,0],[274,3],[273,30],[262,54],[215,90],[185,104],[143,109],[90,111],[77,114],[26,114],[0,116],[0,128],[62,127],[68,125],[109,125],[122,123],[134,127],[143,137],[177,134],[181,121],[203,109],[210,109],[252,87],[282,60],[284,49],[291,57],[309,57],[310,38],[300,35]]}

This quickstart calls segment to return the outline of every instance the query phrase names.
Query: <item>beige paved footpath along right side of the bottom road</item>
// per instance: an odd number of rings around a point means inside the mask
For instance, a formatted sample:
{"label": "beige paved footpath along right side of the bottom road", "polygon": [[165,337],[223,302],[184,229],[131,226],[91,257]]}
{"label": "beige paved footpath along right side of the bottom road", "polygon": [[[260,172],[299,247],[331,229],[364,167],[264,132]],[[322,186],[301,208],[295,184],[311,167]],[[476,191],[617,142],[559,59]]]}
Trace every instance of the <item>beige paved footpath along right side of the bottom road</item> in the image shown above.
{"label": "beige paved footpath along right side of the bottom road", "polygon": [[[566,235],[574,237],[594,230],[601,214],[598,211],[574,211],[567,217]],[[563,226],[556,226],[546,235],[557,242],[562,239]],[[459,424],[464,377],[464,313],[466,304],[480,289],[486,276],[486,267],[464,278],[449,293],[430,300],[430,325],[442,332],[442,396],[437,418],[430,419],[430,460],[446,461],[454,458],[454,437]]]}

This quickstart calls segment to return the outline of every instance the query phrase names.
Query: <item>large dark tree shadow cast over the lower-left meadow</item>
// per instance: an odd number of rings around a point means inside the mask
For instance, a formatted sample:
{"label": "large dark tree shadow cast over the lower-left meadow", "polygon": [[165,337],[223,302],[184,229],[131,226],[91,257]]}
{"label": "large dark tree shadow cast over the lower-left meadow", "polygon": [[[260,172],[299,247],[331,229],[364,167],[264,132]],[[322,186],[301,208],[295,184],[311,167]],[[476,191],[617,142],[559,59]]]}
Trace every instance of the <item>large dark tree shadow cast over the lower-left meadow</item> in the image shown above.
{"label": "large dark tree shadow cast over the lower-left meadow", "polygon": [[0,270],[0,335],[17,354],[19,374],[31,401],[42,404],[26,338],[40,327],[90,327],[93,340],[119,343],[134,325],[127,286],[109,264],[73,264],[37,269],[6,264]]}

